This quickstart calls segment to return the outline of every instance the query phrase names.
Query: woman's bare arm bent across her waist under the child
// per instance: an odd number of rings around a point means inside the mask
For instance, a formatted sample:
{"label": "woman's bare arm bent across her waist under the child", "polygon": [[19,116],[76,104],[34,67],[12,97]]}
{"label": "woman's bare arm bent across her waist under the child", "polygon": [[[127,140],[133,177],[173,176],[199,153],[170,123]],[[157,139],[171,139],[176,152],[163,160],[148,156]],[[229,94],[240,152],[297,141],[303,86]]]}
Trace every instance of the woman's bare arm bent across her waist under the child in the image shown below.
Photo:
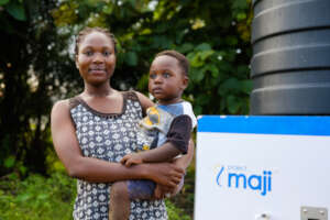
{"label": "woman's bare arm bent across her waist under the child", "polygon": [[51,127],[55,151],[72,177],[95,183],[143,178],[175,187],[183,176],[184,170],[170,163],[141,164],[127,168],[120,163],[82,156],[69,114],[68,100],[54,105]]}

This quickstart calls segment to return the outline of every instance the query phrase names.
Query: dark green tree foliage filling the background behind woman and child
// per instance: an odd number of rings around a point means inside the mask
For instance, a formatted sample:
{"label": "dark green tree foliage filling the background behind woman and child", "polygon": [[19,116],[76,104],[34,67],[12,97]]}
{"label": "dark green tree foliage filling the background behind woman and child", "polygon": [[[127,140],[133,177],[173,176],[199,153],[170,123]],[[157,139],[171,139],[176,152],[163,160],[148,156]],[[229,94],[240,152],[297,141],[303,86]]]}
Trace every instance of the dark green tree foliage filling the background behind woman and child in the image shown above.
{"label": "dark green tree foliage filling the background behind woman and child", "polygon": [[63,169],[50,156],[48,116],[55,100],[82,89],[70,50],[73,36],[86,25],[109,28],[119,41],[114,88],[147,95],[154,55],[177,50],[191,64],[184,98],[196,114],[249,113],[250,4],[0,0],[0,176]]}

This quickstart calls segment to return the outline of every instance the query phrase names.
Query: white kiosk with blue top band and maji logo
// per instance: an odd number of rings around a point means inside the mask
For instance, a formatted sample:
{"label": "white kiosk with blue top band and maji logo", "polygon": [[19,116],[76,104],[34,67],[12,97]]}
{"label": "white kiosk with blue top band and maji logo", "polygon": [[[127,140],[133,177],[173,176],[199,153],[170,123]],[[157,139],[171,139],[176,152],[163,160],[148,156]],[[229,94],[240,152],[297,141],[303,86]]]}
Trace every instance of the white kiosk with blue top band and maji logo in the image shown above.
{"label": "white kiosk with blue top band and maji logo", "polygon": [[330,117],[202,116],[196,147],[195,220],[328,220]]}

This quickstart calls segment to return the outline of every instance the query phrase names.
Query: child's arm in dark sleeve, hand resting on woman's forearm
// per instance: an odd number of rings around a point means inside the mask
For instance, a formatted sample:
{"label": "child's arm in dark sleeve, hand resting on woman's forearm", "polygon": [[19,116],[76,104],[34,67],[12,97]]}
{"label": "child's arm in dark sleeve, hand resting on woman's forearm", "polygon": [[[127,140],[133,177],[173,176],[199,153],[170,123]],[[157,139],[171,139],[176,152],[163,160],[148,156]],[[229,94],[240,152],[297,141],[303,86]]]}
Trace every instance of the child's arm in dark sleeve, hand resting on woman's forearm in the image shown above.
{"label": "child's arm in dark sleeve, hand resting on woman's forearm", "polygon": [[150,151],[128,154],[121,163],[125,166],[141,163],[172,161],[179,154],[186,154],[191,132],[191,119],[186,116],[176,117],[167,133],[166,143]]}

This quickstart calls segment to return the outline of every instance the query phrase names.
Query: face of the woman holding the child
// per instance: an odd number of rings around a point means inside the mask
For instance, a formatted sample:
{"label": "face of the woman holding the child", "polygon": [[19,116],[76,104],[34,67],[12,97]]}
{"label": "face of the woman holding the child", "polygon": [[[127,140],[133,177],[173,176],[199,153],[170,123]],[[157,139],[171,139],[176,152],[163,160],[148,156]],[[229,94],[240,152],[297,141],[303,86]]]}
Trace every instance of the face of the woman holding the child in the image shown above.
{"label": "face of the woman holding the child", "polygon": [[114,44],[101,32],[87,34],[79,44],[76,66],[85,82],[98,86],[108,82],[116,67]]}

